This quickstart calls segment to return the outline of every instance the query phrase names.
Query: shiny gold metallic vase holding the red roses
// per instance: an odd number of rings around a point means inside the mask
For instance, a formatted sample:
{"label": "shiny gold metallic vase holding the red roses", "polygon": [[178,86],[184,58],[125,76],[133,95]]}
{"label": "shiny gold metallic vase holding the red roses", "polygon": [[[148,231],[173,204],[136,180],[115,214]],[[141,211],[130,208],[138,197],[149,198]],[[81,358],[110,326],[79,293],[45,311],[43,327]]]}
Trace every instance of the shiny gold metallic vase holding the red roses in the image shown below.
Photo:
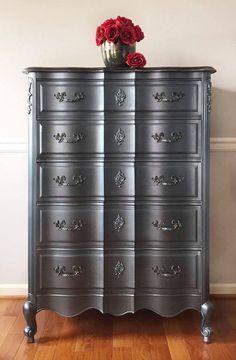
{"label": "shiny gold metallic vase holding the red roses", "polygon": [[127,67],[127,55],[135,52],[136,43],[125,45],[118,41],[116,44],[104,41],[101,45],[102,58],[106,67]]}

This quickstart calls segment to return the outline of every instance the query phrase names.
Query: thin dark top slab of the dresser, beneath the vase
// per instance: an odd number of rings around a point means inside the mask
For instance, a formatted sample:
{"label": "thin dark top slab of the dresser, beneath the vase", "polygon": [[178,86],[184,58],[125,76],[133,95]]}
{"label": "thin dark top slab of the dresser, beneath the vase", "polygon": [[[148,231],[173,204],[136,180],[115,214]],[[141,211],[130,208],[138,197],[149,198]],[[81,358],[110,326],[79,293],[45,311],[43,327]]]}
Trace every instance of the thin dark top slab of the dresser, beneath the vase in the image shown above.
{"label": "thin dark top slab of the dresser, beneath the vase", "polygon": [[104,68],[104,67],[27,67],[23,70],[25,74],[30,72],[210,72],[215,73],[216,69],[211,66],[193,67],[145,67],[145,68]]}

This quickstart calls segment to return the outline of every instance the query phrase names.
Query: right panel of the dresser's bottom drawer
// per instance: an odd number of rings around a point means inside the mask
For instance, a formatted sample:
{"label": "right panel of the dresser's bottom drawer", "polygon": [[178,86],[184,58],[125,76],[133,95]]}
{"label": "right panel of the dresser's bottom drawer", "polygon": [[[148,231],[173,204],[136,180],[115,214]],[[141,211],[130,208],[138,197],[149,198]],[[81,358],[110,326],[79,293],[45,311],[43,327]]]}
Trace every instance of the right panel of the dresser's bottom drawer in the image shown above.
{"label": "right panel of the dresser's bottom drawer", "polygon": [[200,251],[137,251],[135,269],[137,292],[142,289],[150,293],[159,289],[197,292],[201,288]]}

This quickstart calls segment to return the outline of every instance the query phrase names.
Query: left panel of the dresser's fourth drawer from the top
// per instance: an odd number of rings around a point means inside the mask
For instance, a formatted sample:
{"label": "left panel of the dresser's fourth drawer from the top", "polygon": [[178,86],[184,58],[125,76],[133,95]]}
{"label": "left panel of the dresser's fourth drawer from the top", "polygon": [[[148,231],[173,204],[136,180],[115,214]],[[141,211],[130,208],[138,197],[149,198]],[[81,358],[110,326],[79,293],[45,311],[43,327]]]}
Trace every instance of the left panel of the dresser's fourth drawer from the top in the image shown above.
{"label": "left panel of the dresser's fourth drawer from the top", "polygon": [[103,205],[37,207],[39,246],[103,244]]}

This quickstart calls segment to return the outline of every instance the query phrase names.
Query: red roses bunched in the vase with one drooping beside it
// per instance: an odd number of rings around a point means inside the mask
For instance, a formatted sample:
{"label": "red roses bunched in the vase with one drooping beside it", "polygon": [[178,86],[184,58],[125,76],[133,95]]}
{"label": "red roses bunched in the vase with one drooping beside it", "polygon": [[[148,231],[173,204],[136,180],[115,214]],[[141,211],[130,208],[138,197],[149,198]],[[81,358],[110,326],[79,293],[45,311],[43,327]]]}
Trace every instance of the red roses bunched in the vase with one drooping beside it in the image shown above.
{"label": "red roses bunched in the vase with one drooping beside it", "polygon": [[[143,40],[143,38],[144,33],[140,26],[134,25],[131,19],[122,16],[104,21],[96,30],[96,44],[98,46],[106,41],[128,46]],[[127,55],[126,64],[131,67],[142,67],[146,64],[146,59],[141,53],[131,52]]]}

